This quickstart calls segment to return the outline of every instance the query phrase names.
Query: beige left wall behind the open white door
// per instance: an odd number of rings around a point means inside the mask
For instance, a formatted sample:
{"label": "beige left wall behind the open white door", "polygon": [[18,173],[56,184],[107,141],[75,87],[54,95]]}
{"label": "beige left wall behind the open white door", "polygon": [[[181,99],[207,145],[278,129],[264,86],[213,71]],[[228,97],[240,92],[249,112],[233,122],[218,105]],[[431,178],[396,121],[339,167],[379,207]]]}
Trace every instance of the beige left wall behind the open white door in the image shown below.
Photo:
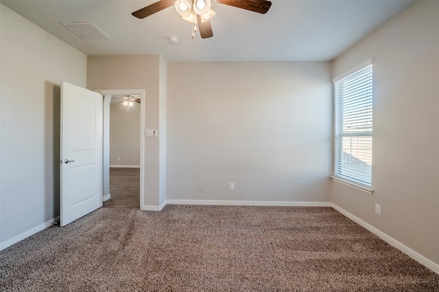
{"label": "beige left wall behind the open white door", "polygon": [[0,243],[60,215],[60,83],[86,55],[1,5]]}

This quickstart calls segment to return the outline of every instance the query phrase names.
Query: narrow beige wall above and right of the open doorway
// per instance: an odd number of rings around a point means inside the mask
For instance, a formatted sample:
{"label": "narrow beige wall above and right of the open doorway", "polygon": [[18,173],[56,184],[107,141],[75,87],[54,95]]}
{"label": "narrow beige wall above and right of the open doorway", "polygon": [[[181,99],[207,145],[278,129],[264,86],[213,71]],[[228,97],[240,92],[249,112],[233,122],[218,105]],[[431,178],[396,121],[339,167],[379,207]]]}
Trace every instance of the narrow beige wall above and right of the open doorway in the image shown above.
{"label": "narrow beige wall above and right of the open doorway", "polygon": [[[145,129],[157,129],[158,137],[145,137],[146,168],[143,179],[143,209],[155,209],[160,203],[163,192],[160,170],[160,151],[165,145],[159,143],[161,131],[166,133],[166,125],[161,123],[163,84],[161,81],[161,56],[159,55],[119,55],[119,56],[88,56],[87,88],[90,90],[145,90]],[[161,140],[163,143],[163,140]],[[161,189],[162,187],[162,189]]]}

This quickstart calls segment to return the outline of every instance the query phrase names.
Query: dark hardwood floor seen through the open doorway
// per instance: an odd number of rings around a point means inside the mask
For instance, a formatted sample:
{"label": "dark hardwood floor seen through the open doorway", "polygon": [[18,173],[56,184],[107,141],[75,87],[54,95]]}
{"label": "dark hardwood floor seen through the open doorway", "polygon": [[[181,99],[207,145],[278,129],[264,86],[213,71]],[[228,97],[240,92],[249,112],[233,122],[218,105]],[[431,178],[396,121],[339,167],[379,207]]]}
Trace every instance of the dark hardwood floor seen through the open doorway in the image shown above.
{"label": "dark hardwood floor seen through the open doorway", "polygon": [[108,208],[140,208],[140,168],[110,168]]}

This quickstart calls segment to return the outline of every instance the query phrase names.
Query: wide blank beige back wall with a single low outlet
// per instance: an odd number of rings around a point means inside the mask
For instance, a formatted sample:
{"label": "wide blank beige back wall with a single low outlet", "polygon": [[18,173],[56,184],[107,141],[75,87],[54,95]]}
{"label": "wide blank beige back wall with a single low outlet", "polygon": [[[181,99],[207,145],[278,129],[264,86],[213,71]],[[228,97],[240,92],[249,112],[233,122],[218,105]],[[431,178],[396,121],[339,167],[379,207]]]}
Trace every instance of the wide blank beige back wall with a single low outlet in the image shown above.
{"label": "wide blank beige back wall with a single low outlet", "polygon": [[168,200],[331,201],[330,63],[169,63],[167,78]]}

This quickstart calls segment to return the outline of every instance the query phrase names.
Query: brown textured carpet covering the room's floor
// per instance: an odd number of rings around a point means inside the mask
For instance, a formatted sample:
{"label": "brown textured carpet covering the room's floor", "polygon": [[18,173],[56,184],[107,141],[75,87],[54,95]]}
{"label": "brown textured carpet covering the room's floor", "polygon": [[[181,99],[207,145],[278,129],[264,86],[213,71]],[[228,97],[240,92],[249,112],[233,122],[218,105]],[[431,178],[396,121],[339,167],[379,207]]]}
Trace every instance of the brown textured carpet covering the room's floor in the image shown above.
{"label": "brown textured carpet covering the room's floor", "polygon": [[102,208],[0,252],[0,291],[439,291],[331,208]]}

